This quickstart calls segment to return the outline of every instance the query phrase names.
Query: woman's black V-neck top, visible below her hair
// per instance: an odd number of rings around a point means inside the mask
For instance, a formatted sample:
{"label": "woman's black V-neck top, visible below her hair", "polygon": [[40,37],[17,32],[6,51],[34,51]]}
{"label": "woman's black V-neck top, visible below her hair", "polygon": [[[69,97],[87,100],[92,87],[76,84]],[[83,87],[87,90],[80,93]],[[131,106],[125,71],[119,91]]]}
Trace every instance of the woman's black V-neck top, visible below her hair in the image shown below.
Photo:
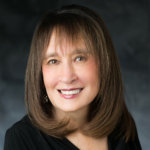
{"label": "woman's black V-neck top, visible below her hair", "polygon": [[[109,150],[141,150],[138,137],[134,142],[114,141],[108,137]],[[4,150],[79,150],[67,138],[48,136],[32,125],[28,116],[7,130]]]}

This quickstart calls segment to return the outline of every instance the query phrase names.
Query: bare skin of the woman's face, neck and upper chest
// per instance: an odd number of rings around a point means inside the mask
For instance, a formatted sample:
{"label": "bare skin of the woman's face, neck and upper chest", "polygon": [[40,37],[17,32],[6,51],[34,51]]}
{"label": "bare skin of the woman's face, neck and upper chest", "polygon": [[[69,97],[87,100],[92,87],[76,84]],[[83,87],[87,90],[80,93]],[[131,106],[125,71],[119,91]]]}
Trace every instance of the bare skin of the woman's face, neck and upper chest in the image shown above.
{"label": "bare skin of the woman's face, neck and upper chest", "polygon": [[[75,43],[67,38],[58,44],[53,32],[42,63],[44,85],[59,120],[69,116],[72,125],[80,127],[86,123],[89,104],[99,90],[98,64],[88,52],[82,39]],[[65,95],[60,90],[79,89],[79,93]],[[78,148],[107,150],[107,137],[95,139],[83,135],[79,130],[66,138]]]}

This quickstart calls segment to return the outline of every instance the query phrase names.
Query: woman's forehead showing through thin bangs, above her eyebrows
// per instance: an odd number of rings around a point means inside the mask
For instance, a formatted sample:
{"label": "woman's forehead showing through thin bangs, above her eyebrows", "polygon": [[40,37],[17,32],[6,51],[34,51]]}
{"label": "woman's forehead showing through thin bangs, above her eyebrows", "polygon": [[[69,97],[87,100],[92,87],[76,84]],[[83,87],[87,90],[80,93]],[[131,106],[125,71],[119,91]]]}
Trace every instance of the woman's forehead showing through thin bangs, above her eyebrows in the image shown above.
{"label": "woman's forehead showing through thin bangs, above her eyebrows", "polygon": [[76,52],[89,52],[86,47],[85,40],[81,34],[72,37],[66,33],[58,33],[54,30],[51,34],[46,54],[59,53],[62,55]]}

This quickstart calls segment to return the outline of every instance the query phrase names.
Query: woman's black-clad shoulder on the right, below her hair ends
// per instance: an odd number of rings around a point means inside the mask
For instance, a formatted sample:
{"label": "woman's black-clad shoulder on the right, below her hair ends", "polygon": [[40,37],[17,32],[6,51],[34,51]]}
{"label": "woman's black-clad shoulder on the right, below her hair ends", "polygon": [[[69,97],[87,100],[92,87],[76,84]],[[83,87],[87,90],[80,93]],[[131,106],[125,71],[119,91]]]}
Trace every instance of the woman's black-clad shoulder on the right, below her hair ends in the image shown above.
{"label": "woman's black-clad shoulder on the right, below her hair ends", "polygon": [[[117,128],[109,135],[108,141],[112,147],[111,150],[142,150],[135,121],[131,115],[130,118],[130,126],[127,123],[125,125],[129,129],[128,132],[126,128],[122,128],[123,123],[119,122]],[[126,134],[130,135],[128,139],[125,136]]]}

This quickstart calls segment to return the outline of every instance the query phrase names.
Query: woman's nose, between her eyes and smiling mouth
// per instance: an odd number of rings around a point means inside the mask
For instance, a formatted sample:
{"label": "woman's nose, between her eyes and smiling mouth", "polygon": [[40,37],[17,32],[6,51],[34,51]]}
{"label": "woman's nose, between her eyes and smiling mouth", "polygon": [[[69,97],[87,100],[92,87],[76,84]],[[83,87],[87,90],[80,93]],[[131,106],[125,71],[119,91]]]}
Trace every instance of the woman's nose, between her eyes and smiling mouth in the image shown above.
{"label": "woman's nose, between her eyes and smiling mouth", "polygon": [[71,63],[64,63],[61,66],[60,81],[65,84],[71,84],[77,80],[77,75],[75,73],[75,68]]}

